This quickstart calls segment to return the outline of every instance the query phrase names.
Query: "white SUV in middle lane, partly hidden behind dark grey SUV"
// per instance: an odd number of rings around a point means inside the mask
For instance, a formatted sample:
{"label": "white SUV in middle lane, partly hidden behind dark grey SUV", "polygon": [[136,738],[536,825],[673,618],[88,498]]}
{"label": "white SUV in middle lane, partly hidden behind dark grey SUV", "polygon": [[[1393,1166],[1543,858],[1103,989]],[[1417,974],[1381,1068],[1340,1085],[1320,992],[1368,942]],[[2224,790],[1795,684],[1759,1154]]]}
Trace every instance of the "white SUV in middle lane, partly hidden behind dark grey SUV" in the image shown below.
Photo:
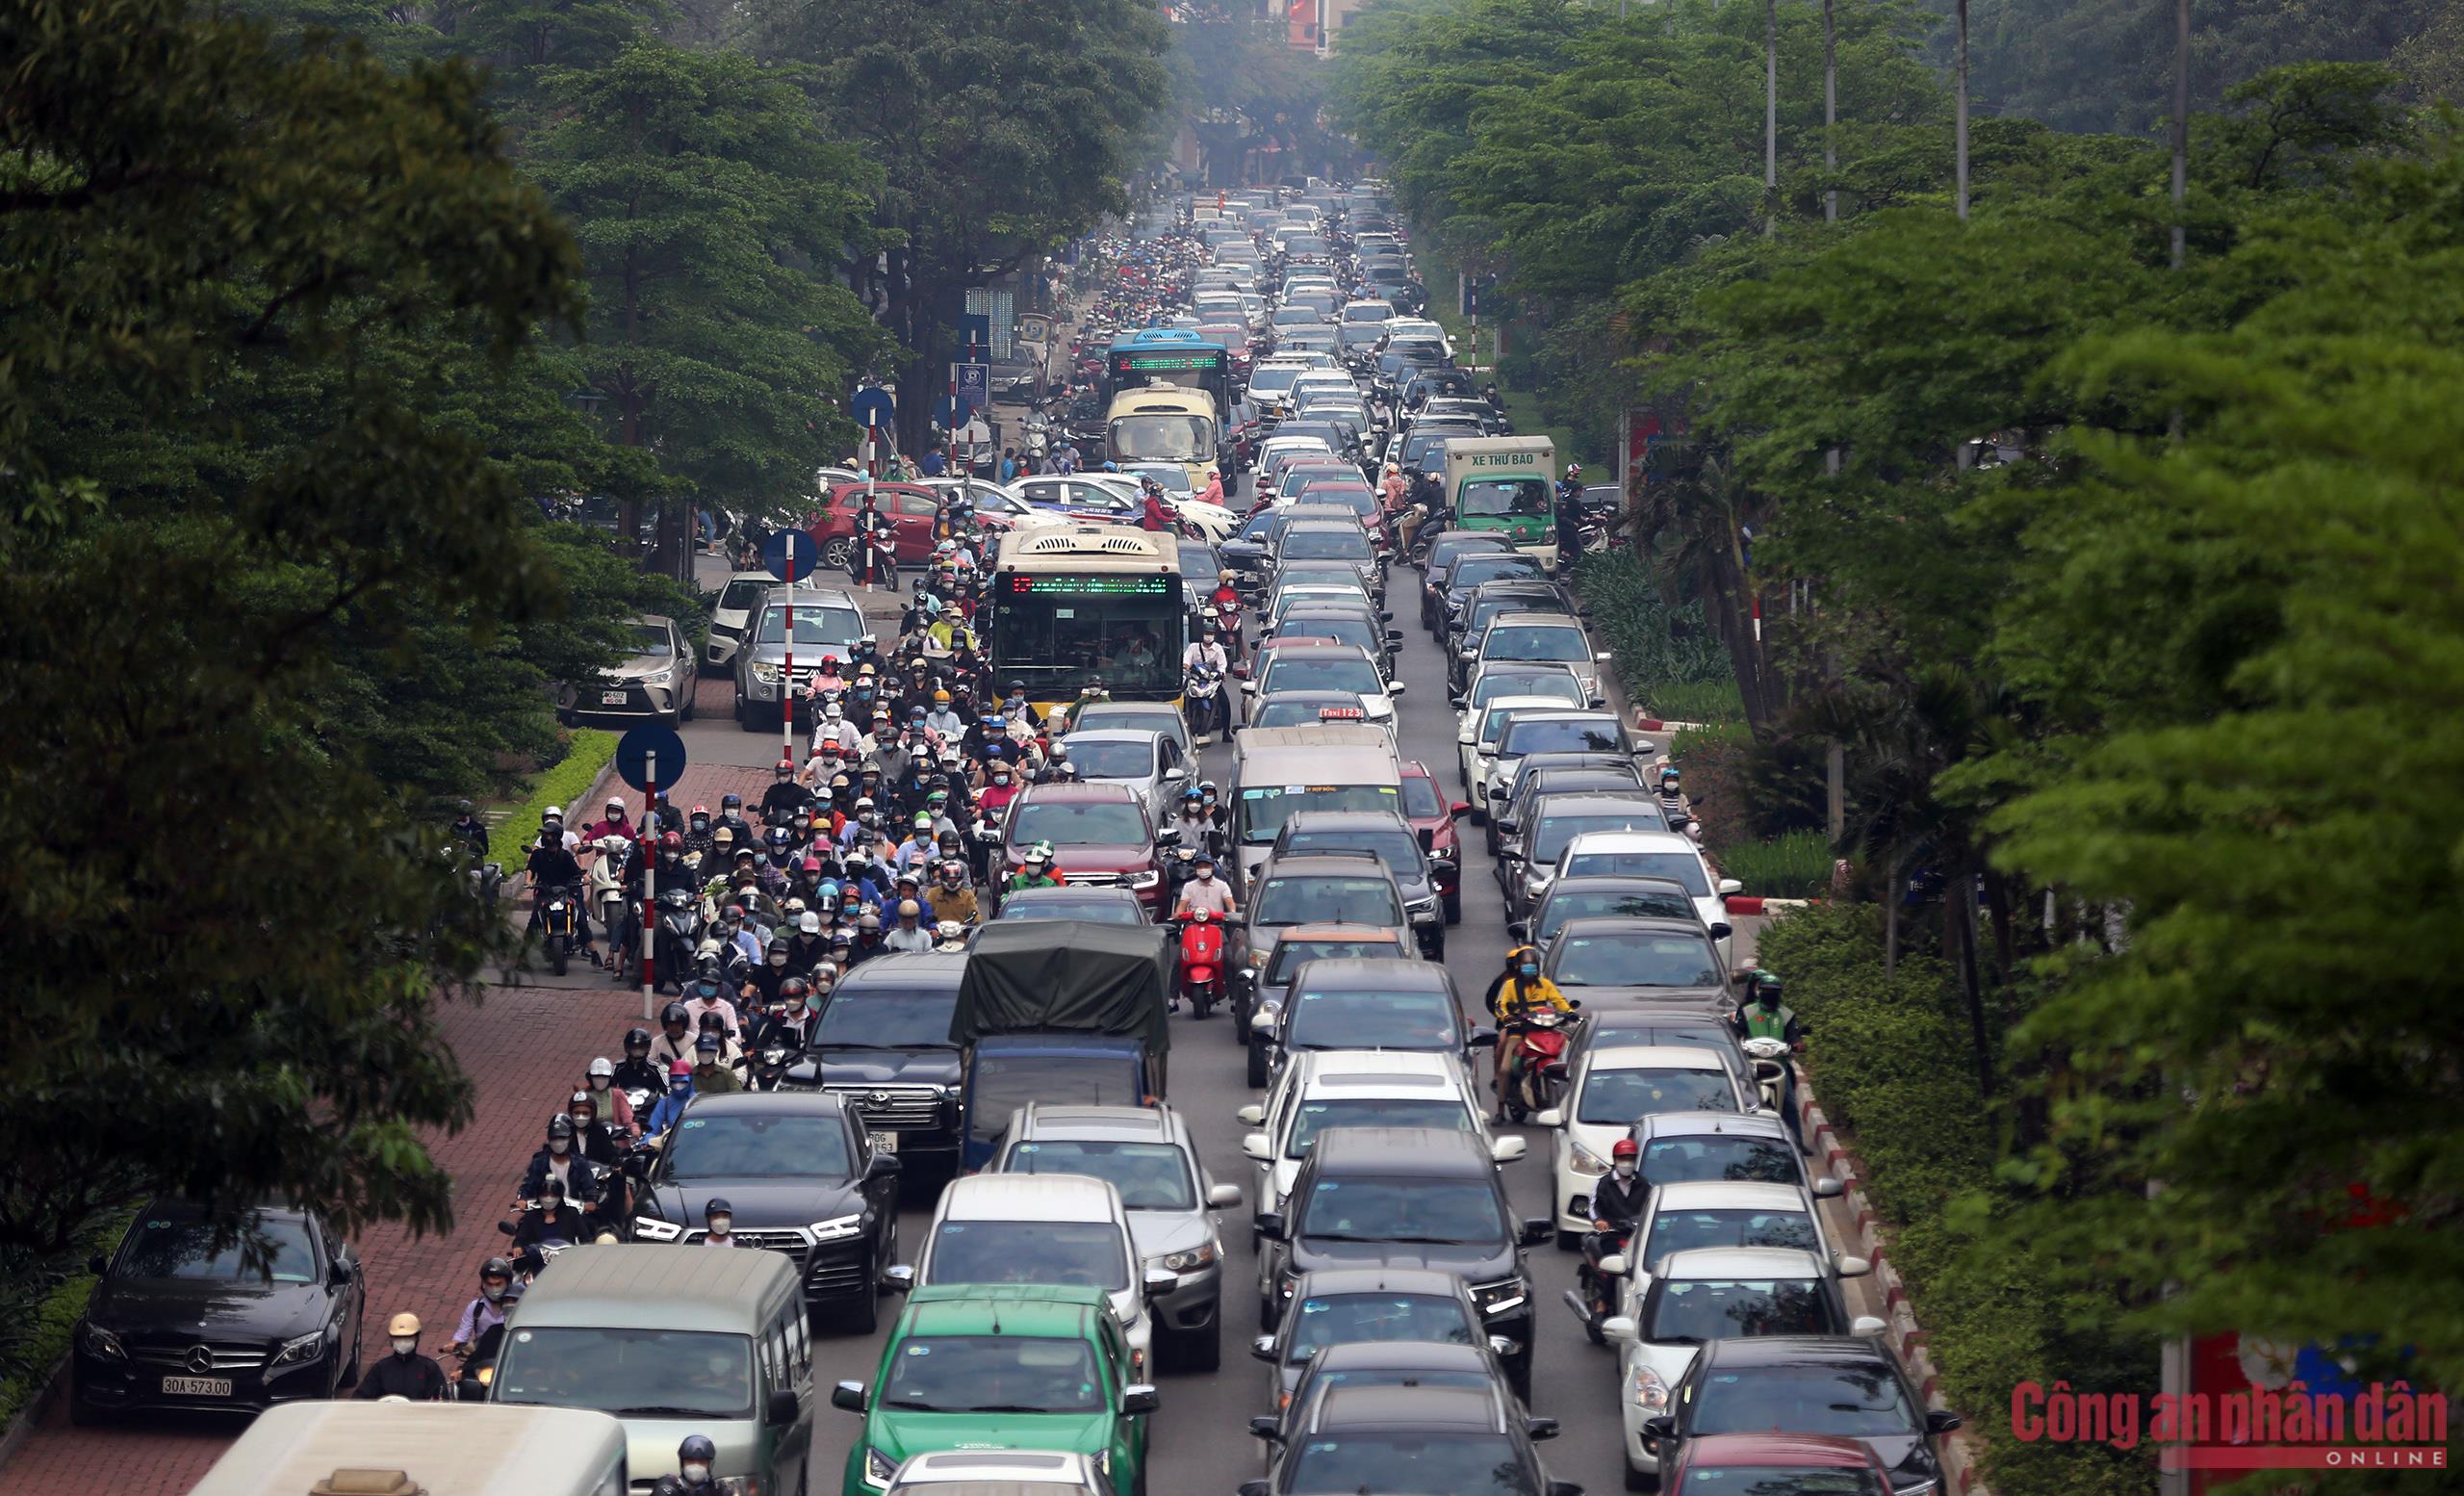
{"label": "white SUV in middle lane, partly hidden behind dark grey SUV", "polygon": [[1284,1210],[1308,1146],[1331,1126],[1469,1131],[1496,1163],[1513,1163],[1530,1148],[1518,1136],[1491,1136],[1488,1112],[1461,1060],[1422,1050],[1303,1050],[1284,1065],[1264,1102],[1234,1116],[1257,1129],[1239,1144],[1257,1163],[1257,1215]]}

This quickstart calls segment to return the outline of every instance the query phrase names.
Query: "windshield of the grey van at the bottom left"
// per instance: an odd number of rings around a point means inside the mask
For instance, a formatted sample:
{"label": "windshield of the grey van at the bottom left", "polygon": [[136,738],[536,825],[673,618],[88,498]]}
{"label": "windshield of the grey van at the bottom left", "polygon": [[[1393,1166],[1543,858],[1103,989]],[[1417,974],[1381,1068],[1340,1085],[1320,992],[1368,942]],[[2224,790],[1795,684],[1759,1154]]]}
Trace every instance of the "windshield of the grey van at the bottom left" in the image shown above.
{"label": "windshield of the grey van at the bottom left", "polygon": [[710,1331],[513,1328],[488,1397],[614,1417],[747,1420],[754,1343]]}

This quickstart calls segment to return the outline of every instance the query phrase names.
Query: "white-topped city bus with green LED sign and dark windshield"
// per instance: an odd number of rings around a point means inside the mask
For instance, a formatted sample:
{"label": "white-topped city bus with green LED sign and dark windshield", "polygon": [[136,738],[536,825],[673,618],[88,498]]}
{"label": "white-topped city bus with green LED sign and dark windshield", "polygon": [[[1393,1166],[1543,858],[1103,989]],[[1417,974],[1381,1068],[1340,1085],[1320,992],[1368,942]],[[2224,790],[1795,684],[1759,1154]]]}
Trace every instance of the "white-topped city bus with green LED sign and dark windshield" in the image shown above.
{"label": "white-topped city bus with green LED sign and dark windshield", "polygon": [[993,680],[1025,683],[1037,712],[1096,680],[1114,700],[1180,702],[1188,601],[1173,535],[1099,522],[1010,532],[976,621]]}

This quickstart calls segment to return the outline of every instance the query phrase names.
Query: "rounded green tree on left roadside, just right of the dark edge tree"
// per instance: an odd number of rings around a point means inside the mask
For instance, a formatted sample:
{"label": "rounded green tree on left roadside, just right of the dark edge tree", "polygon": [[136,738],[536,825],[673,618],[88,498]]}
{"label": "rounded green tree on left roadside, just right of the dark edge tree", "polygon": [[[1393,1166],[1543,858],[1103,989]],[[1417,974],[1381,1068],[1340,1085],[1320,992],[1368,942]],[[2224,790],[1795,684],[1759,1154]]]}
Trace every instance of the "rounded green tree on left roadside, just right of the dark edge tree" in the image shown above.
{"label": "rounded green tree on left roadside, just right of the dark edge tree", "polygon": [[[833,394],[880,348],[828,278],[867,242],[880,177],[823,138],[793,74],[749,57],[636,42],[540,89],[554,123],[525,165],[582,239],[591,315],[574,360],[616,441],[655,451],[702,503],[806,495],[853,439]],[[675,503],[660,547],[660,569],[687,574]]]}

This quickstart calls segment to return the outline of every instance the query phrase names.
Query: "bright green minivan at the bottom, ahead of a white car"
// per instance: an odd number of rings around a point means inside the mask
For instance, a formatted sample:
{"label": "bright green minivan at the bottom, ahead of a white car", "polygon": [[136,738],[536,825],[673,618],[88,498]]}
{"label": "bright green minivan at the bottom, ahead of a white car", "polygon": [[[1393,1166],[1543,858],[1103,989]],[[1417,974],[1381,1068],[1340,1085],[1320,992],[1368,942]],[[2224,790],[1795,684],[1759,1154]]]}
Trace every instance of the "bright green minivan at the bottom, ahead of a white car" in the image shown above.
{"label": "bright green minivan at the bottom, ahead of a white car", "polygon": [[1146,1496],[1156,1388],[1124,1385],[1129,1341],[1104,1289],[949,1284],[917,1289],[865,1383],[835,1407],[865,1415],[840,1496],[875,1496],[899,1461],[936,1449],[1087,1454],[1114,1491]]}

